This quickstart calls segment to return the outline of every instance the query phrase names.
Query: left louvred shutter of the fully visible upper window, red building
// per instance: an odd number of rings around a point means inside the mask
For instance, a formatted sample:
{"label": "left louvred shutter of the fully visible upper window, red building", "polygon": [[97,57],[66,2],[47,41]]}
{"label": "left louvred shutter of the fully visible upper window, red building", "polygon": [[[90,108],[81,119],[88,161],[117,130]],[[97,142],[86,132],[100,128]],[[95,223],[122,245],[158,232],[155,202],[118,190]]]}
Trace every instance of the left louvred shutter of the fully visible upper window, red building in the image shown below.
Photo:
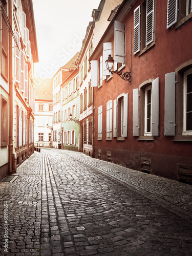
{"label": "left louvred shutter of the fully visible upper window, red building", "polygon": [[134,54],[140,51],[140,6],[134,10]]}

